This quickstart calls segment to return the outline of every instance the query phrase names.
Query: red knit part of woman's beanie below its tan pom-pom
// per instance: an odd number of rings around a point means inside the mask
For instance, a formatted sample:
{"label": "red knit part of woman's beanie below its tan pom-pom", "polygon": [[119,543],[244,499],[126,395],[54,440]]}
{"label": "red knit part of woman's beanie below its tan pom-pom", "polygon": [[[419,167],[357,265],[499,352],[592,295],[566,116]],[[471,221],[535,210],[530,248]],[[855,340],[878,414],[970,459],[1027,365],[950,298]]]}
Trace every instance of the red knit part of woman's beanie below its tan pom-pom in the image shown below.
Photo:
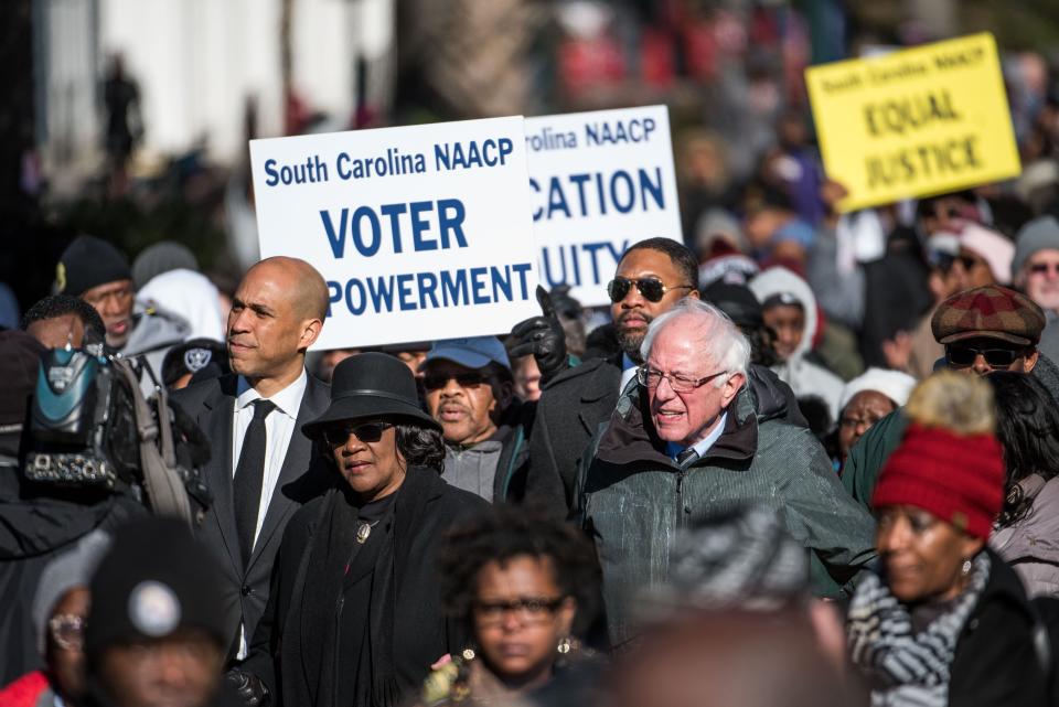
{"label": "red knit part of woman's beanie below its tan pom-pom", "polygon": [[871,507],[911,505],[988,539],[1004,503],[1004,457],[992,435],[909,426],[871,494]]}

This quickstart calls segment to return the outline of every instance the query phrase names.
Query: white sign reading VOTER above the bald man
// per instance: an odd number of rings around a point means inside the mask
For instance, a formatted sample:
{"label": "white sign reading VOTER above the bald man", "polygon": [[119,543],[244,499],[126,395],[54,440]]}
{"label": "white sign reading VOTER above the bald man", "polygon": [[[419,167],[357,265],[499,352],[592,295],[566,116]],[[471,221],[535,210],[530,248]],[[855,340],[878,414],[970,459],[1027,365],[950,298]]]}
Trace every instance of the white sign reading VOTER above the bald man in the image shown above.
{"label": "white sign reading VOTER above the bald man", "polygon": [[539,313],[522,117],[250,141],[261,257],[309,261],[317,349],[504,333]]}

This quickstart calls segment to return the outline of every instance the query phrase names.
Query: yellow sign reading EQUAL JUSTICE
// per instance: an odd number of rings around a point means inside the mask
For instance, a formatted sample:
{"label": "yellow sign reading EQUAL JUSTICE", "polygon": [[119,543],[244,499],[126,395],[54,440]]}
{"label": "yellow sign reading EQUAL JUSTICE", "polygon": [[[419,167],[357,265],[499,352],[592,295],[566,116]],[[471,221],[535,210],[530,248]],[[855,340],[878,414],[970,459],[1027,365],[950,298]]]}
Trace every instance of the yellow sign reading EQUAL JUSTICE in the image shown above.
{"label": "yellow sign reading EQUAL JUSTICE", "polygon": [[827,176],[852,211],[1021,171],[990,33],[805,69]]}

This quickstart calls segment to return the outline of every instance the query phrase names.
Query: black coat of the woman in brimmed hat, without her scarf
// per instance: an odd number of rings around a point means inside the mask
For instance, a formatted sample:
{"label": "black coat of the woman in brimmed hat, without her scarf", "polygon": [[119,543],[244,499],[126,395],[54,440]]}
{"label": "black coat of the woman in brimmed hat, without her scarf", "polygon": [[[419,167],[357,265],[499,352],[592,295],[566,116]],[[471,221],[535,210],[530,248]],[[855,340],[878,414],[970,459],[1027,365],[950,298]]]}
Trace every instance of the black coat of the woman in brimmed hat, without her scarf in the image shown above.
{"label": "black coat of the woman in brimmed hat, without her scarf", "polygon": [[[244,671],[257,675],[279,698],[279,706],[334,707],[330,696],[335,686],[318,684],[320,666],[307,665],[303,652],[291,647],[317,639],[322,631],[288,622],[287,618],[296,610],[304,615],[297,602],[306,596],[307,575],[312,570],[302,558],[312,547],[329,499],[339,493],[338,489],[329,491],[291,518],[277,558],[269,603],[254,635],[250,656],[243,664]],[[448,485],[431,469],[409,469],[397,491],[392,527],[396,611],[393,655],[386,657],[398,688],[406,695],[422,684],[438,658],[466,647],[462,623],[447,618],[441,607],[438,554],[453,523],[488,507],[477,495]],[[373,596],[373,618],[378,613],[376,601],[381,599]]]}

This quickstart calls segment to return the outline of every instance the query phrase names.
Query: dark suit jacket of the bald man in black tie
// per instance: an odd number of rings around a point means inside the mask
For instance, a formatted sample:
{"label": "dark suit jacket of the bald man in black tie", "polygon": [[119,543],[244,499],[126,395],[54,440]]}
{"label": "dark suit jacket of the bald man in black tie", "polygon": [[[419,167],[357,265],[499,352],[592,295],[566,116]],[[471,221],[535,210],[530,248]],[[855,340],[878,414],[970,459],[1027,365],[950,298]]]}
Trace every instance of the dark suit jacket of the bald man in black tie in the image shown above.
{"label": "dark suit jacket of the bald man in black tie", "polygon": [[211,457],[203,475],[213,494],[213,505],[199,527],[199,535],[216,551],[224,568],[222,601],[228,614],[228,635],[235,641],[242,622],[249,642],[268,601],[272,561],[287,522],[295,511],[334,482],[327,462],[301,432],[303,424],[327,409],[331,388],[309,376],[265,523],[244,567],[232,507],[232,418],[237,383],[235,374],[204,381],[178,390],[173,400],[194,418],[210,439]]}

